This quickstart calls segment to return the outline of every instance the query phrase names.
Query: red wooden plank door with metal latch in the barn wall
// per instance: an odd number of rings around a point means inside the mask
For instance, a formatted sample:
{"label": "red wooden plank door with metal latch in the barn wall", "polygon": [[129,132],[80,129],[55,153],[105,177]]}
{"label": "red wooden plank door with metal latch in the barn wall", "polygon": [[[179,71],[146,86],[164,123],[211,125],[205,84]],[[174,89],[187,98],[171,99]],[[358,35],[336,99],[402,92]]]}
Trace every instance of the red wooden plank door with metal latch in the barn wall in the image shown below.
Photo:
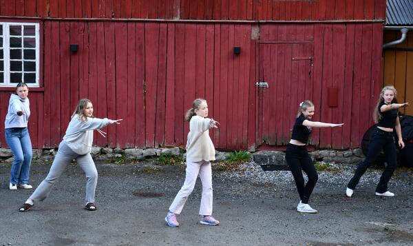
{"label": "red wooden plank door with metal latch in the barn wall", "polygon": [[286,145],[299,103],[313,94],[313,43],[260,43],[257,53],[257,147]]}

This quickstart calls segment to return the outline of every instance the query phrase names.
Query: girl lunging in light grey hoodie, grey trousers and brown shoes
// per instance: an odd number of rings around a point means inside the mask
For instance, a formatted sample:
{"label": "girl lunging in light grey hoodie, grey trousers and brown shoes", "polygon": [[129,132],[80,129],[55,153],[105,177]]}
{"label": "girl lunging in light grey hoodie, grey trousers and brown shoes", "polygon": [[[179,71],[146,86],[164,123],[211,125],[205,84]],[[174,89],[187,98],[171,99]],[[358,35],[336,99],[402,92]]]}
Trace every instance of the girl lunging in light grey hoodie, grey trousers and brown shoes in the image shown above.
{"label": "girl lunging in light grey hoodie, grey trousers and brown shoes", "polygon": [[[66,134],[59,145],[59,151],[54,158],[52,167],[47,177],[41,182],[32,196],[20,207],[20,212],[28,211],[34,201],[43,201],[52,191],[57,179],[63,174],[73,159],[85,172],[86,182],[86,205],[87,210],[96,210],[94,194],[98,183],[98,172],[90,152],[92,150],[93,130],[98,130],[109,124],[120,124],[119,120],[97,119],[93,115],[93,105],[89,99],[81,99],[72,115],[72,120],[67,127]],[[98,130],[101,134],[105,134]]]}

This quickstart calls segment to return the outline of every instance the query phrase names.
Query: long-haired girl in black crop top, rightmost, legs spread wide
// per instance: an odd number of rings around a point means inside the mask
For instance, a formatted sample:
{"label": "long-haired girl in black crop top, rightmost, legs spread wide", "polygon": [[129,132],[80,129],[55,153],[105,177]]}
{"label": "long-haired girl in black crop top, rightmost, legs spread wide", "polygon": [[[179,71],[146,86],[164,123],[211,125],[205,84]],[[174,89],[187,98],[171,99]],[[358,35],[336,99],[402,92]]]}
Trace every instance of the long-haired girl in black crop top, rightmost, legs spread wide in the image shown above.
{"label": "long-haired girl in black crop top, rightmost, legs spread wide", "polygon": [[397,109],[405,107],[409,103],[397,103],[396,89],[393,86],[385,86],[381,90],[377,107],[374,109],[374,122],[377,123],[377,129],[374,130],[370,143],[368,145],[368,154],[366,159],[357,167],[354,176],[347,185],[346,196],[351,197],[355,187],[360,181],[361,176],[367,168],[379,156],[381,149],[384,150],[387,157],[387,166],[381,174],[379,184],[376,188],[377,196],[394,196],[394,193],[388,191],[388,182],[392,178],[396,168],[396,146],[394,146],[393,129],[396,129],[399,138],[399,146],[403,149],[404,143],[401,137],[401,127]]}

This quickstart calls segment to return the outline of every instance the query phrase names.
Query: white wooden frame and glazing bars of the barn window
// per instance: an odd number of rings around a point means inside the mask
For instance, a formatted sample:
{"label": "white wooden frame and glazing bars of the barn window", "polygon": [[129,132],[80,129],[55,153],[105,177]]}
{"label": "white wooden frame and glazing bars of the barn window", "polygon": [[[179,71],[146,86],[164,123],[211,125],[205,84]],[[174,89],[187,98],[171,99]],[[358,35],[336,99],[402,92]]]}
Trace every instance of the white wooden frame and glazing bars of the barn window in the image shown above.
{"label": "white wooden frame and glazing bars of the barn window", "polygon": [[[24,52],[21,54],[21,61],[22,62],[22,81],[24,81],[24,61],[35,61],[36,62],[36,80],[35,83],[28,83],[29,87],[34,87],[38,88],[39,87],[39,63],[40,63],[40,34],[39,34],[39,23],[28,23],[28,22],[0,22],[0,25],[2,25],[3,28],[3,47],[0,47],[0,49],[3,49],[3,83],[0,83],[0,88],[4,87],[16,87],[17,83],[10,83],[10,25],[34,25],[34,36],[29,36],[29,37],[34,37],[36,41],[36,47],[34,48],[36,57],[35,59],[24,59],[23,55]],[[1,28],[1,27],[0,27]],[[23,28],[22,28],[23,30]],[[12,36],[13,37],[13,36]],[[24,36],[27,37],[27,36]],[[22,42],[23,42],[23,37],[22,37]],[[25,48],[22,48],[22,51],[25,50]],[[30,49],[32,50],[32,49]]]}

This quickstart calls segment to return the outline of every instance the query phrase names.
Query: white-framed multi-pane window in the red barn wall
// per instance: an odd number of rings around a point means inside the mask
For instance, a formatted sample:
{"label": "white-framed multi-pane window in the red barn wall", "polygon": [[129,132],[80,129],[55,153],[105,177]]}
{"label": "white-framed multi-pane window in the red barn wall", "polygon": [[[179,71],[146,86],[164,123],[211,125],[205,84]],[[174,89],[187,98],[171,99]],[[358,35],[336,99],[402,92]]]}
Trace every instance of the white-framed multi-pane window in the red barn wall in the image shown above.
{"label": "white-framed multi-pane window in the red barn wall", "polygon": [[0,22],[0,87],[39,87],[39,23]]}

